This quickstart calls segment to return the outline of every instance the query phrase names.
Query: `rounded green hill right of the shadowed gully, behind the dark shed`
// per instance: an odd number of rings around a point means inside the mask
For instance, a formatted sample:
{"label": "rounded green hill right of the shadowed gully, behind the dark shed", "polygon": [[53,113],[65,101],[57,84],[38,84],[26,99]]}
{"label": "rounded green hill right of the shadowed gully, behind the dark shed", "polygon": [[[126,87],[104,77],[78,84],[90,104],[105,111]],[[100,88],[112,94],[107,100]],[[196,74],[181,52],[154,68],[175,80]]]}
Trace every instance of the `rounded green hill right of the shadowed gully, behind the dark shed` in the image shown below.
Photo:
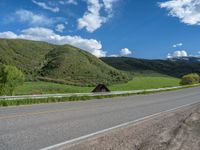
{"label": "rounded green hill right of the shadowed gully, behind the dark shed", "polygon": [[61,79],[67,83],[96,85],[128,81],[128,76],[103,63],[88,52],[75,47],[58,46],[46,55],[47,63],[41,75],[51,79]]}

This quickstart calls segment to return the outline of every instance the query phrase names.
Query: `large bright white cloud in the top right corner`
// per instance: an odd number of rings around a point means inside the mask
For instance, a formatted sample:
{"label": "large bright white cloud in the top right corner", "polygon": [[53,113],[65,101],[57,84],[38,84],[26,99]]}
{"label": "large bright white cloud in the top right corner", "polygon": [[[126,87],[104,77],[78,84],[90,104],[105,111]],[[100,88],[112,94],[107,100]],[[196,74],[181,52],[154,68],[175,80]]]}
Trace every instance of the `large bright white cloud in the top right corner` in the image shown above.
{"label": "large bright white cloud in the top right corner", "polygon": [[200,25],[200,0],[169,0],[159,3],[159,6],[185,24]]}

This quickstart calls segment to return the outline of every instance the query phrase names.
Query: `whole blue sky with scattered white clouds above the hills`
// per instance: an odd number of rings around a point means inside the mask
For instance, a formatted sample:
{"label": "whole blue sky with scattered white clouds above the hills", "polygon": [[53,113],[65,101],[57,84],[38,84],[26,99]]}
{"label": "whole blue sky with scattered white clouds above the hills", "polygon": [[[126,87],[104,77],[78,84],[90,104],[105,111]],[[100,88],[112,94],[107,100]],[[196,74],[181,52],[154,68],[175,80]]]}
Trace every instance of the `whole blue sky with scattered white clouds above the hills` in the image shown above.
{"label": "whole blue sky with scattered white clouds above the hills", "polygon": [[1,0],[0,37],[101,56],[200,55],[200,0]]}

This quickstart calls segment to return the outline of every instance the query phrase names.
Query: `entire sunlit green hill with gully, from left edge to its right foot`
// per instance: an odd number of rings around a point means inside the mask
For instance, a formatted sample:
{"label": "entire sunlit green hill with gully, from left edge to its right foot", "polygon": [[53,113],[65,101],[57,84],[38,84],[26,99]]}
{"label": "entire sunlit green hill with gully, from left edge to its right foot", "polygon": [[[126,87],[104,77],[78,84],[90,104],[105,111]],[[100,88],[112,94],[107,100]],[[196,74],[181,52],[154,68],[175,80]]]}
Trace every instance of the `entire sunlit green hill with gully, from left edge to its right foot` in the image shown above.
{"label": "entire sunlit green hill with gully, from left edge to its right foot", "polygon": [[0,65],[16,66],[28,81],[39,79],[85,86],[129,80],[127,74],[70,45],[0,39],[0,54]]}

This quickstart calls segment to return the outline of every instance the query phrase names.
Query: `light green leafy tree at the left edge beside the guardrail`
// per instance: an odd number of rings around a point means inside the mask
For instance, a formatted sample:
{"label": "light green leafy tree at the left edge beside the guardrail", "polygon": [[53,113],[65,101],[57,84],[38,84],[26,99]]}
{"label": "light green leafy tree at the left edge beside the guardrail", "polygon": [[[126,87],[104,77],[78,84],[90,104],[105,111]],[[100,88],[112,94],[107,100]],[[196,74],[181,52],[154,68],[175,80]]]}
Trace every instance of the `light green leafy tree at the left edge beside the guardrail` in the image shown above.
{"label": "light green leafy tree at the left edge beside the guardrail", "polygon": [[3,65],[0,68],[0,95],[13,95],[15,88],[23,82],[24,75],[16,67]]}

